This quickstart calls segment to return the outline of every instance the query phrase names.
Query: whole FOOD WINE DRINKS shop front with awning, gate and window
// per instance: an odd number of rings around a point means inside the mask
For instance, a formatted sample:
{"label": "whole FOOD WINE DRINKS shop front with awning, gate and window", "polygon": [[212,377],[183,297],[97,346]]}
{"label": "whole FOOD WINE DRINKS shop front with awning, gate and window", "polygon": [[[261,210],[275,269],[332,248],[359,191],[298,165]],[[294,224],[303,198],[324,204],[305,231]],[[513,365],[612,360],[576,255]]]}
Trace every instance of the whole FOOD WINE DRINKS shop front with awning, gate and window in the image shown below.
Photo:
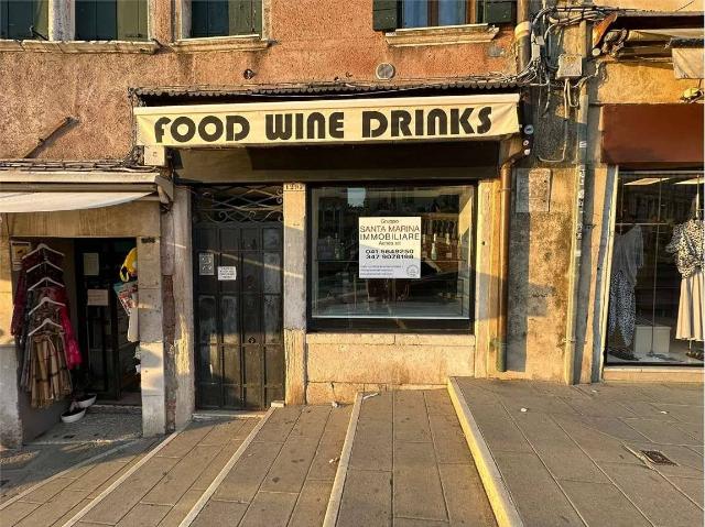
{"label": "whole FOOD WINE DRINKS shop front with awning, gate and window", "polygon": [[197,408],[440,386],[488,361],[517,95],[142,95],[138,143],[169,149],[192,197]]}

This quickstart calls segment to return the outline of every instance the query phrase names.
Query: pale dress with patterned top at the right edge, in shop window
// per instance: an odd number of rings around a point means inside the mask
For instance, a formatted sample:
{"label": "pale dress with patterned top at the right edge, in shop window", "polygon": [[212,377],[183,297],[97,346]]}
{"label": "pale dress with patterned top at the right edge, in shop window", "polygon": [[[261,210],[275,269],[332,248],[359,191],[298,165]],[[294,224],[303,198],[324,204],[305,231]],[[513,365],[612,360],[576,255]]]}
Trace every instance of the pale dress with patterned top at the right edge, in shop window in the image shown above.
{"label": "pale dress with patterned top at the right edge, in shop window", "polygon": [[672,253],[681,273],[681,296],[675,338],[703,340],[703,221],[692,219],[673,228],[673,238],[665,250]]}

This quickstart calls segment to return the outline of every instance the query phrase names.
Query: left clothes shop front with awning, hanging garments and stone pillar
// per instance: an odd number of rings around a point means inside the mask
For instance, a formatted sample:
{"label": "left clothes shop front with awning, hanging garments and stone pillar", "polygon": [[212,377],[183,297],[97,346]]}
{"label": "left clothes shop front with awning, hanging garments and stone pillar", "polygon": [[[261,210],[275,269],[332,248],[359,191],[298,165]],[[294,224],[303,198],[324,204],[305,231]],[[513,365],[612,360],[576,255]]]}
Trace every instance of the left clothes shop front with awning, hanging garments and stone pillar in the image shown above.
{"label": "left clothes shop front with awning, hanging garments and stone pillar", "polygon": [[[2,444],[78,421],[89,404],[141,407],[143,432],[163,433],[164,397],[151,397],[161,305],[149,298],[171,185],[153,171],[55,168],[0,169]],[[158,334],[140,334],[140,322]]]}

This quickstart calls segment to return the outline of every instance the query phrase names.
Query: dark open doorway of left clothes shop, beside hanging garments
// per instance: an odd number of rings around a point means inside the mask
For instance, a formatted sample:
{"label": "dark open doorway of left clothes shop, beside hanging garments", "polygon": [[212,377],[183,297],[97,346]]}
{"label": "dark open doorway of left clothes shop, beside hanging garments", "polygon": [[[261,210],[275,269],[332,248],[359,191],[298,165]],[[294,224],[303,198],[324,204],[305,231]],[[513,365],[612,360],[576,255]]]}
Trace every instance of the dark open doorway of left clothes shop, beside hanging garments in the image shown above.
{"label": "dark open doorway of left clothes shop, beside hanging garments", "polygon": [[134,239],[78,239],[75,244],[78,338],[85,350],[86,391],[101,403],[141,405],[137,342],[128,340],[129,316],[113,290]]}

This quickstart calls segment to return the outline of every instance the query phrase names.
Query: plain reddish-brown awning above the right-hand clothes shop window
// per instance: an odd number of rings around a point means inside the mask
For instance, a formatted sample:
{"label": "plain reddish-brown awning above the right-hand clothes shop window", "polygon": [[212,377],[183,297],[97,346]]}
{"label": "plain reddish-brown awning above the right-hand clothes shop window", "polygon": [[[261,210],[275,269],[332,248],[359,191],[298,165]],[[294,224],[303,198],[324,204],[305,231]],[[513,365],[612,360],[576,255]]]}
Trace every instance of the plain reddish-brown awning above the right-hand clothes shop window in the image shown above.
{"label": "plain reddish-brown awning above the right-hand clothes shop window", "polygon": [[605,105],[601,161],[633,168],[703,164],[703,105]]}

